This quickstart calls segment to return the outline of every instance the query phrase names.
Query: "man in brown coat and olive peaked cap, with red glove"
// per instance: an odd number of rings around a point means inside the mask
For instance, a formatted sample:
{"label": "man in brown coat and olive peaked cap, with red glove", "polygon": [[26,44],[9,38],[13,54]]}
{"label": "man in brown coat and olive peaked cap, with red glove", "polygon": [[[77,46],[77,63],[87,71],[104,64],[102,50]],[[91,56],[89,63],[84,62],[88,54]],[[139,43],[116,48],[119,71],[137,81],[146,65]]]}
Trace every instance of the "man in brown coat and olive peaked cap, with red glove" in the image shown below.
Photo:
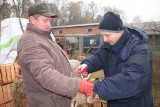
{"label": "man in brown coat and olive peaked cap, with red glove", "polygon": [[63,50],[52,41],[51,13],[46,3],[29,7],[29,21],[18,43],[18,60],[29,107],[70,107],[77,92],[91,95],[93,84],[72,78]]}

